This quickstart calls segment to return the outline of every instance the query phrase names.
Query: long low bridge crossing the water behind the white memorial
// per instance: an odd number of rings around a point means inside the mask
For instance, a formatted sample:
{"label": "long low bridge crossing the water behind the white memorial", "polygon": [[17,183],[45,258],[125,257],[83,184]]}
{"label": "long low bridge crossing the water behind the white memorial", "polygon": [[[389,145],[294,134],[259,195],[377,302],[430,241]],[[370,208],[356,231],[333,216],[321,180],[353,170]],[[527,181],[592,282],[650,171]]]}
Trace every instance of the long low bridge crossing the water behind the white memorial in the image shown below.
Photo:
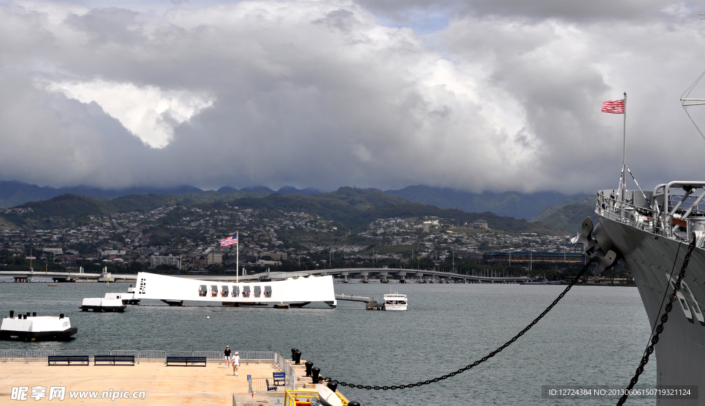
{"label": "long low bridge crossing the water behind the white memorial", "polygon": [[[401,283],[522,283],[529,280],[528,276],[479,276],[463,273],[441,272],[427,269],[402,269],[402,268],[344,268],[344,269],[318,269],[298,272],[271,272],[255,273],[235,277],[235,275],[175,275],[180,278],[194,278],[204,281],[260,281],[269,278],[273,281],[286,278],[299,278],[310,275],[332,275],[343,278],[359,278],[362,282],[370,279],[379,279],[386,283],[393,278],[398,278]],[[134,282],[135,273],[83,273],[83,272],[41,272],[41,271],[0,271],[0,278],[13,278],[16,282],[29,282],[51,279],[55,282]]]}

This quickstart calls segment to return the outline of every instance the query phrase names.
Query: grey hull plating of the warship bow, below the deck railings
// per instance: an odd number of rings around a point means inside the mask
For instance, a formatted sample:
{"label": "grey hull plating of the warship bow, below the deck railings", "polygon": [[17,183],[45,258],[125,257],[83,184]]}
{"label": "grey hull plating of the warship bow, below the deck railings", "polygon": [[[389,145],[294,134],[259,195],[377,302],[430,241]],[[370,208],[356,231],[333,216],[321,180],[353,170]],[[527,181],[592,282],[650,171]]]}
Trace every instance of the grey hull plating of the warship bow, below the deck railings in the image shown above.
{"label": "grey hull plating of the warship bow, below the deck railings", "polygon": [[[599,222],[623,254],[627,268],[632,273],[639,295],[644,302],[649,324],[653,327],[685,259],[687,243],[663,238],[638,228],[598,216]],[[656,384],[697,385],[705,389],[705,250],[695,248],[673,310],[668,316],[663,333],[655,345]],[[662,305],[663,301],[663,305]],[[646,343],[644,343],[646,345]],[[638,354],[640,357],[641,354]],[[634,355],[637,357],[637,354]],[[635,369],[637,362],[635,359]],[[648,382],[641,382],[648,383]],[[705,394],[698,400],[657,400],[657,405],[705,406]]]}

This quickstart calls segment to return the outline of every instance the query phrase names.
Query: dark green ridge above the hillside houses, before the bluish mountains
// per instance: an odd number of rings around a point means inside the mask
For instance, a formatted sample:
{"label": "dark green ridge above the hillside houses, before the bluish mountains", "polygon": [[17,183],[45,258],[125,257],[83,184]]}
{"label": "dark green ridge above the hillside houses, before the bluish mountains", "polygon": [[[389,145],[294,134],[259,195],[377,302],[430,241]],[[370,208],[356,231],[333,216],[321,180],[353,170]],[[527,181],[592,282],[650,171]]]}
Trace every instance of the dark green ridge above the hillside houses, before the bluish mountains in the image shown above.
{"label": "dark green ridge above the hillside houses, before the bluish mountains", "polygon": [[[227,197],[227,198],[226,198]],[[376,189],[341,187],[335,192],[306,196],[300,194],[281,195],[271,192],[226,193],[205,192],[184,195],[130,195],[115,199],[101,199],[83,195],[61,195],[53,199],[22,204],[8,214],[0,214],[3,228],[66,228],[86,223],[87,216],[99,216],[118,212],[146,211],[176,204],[200,207],[221,207],[224,204],[260,210],[301,211],[316,214],[323,219],[337,221],[346,228],[360,231],[376,219],[393,217],[438,216],[453,219],[453,222],[472,223],[484,219],[490,228],[512,233],[539,233],[558,235],[563,233],[550,224],[517,220],[508,216],[497,216],[490,212],[468,213],[458,209],[439,209],[429,204],[409,202],[403,197]],[[18,209],[32,209],[18,213]]]}

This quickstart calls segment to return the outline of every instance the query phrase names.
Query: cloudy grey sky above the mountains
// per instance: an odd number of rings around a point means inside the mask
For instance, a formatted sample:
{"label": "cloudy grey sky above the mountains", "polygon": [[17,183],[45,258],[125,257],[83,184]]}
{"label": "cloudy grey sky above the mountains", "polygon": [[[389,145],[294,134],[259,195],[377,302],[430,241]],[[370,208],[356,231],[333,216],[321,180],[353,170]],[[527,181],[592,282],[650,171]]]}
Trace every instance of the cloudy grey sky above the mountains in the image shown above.
{"label": "cloudy grey sky above the mountains", "polygon": [[[594,192],[702,180],[702,3],[0,1],[0,180]],[[705,98],[703,85],[689,97]],[[601,113],[622,99],[624,116]],[[705,130],[705,106],[689,107]],[[630,183],[630,187],[633,183]]]}

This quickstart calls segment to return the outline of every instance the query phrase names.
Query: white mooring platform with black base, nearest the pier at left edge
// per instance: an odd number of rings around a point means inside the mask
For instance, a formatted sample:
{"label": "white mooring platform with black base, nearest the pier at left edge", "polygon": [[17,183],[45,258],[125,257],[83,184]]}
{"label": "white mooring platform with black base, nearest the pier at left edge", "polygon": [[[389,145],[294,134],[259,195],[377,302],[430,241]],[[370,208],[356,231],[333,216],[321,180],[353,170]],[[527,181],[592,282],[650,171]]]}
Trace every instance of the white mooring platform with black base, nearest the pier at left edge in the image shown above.
{"label": "white mooring platform with black base, nearest the pier at left edge", "polygon": [[11,310],[10,316],[2,319],[0,340],[65,341],[71,340],[77,331],[78,328],[71,327],[71,320],[63,314],[56,317],[27,313],[16,317]]}

